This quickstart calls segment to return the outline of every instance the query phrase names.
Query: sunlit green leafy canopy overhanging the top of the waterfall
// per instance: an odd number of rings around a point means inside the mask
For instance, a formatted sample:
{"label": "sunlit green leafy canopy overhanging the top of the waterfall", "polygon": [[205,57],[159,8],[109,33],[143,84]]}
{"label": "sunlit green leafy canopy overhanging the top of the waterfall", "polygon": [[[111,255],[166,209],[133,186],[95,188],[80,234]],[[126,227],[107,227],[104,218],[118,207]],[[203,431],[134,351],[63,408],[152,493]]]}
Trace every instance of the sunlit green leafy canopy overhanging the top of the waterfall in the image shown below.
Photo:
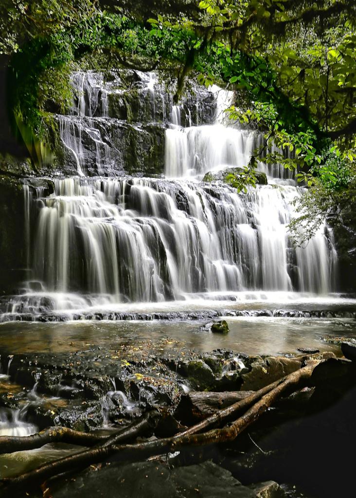
{"label": "sunlit green leafy canopy overhanging the top of the waterfall", "polygon": [[45,138],[48,103],[68,104],[70,70],[96,54],[112,65],[176,73],[177,99],[189,72],[201,84],[235,90],[230,117],[264,129],[266,138],[239,189],[254,184],[261,155],[298,166],[309,183],[326,151],[354,161],[354,2],[208,0],[199,2],[200,14],[153,12],[147,22],[116,10],[122,2],[110,3],[107,11],[95,0],[2,2],[0,51],[12,56],[9,103],[17,126]]}

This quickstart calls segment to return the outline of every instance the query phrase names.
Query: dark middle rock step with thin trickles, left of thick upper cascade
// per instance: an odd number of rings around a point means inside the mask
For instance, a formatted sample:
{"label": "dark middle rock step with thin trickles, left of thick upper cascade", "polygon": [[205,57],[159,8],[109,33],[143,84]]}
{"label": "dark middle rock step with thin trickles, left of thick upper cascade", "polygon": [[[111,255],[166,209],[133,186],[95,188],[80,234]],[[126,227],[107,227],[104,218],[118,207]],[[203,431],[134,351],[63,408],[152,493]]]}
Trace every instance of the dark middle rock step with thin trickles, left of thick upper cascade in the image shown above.
{"label": "dark middle rock step with thin trickles, left of thick upper cascade", "polygon": [[[117,119],[61,117],[81,146],[68,142],[55,148],[57,171],[86,176],[156,176],[164,170],[162,124],[129,124]],[[100,136],[100,140],[93,136]],[[79,138],[78,138],[79,139]],[[75,152],[76,151],[76,152]]]}

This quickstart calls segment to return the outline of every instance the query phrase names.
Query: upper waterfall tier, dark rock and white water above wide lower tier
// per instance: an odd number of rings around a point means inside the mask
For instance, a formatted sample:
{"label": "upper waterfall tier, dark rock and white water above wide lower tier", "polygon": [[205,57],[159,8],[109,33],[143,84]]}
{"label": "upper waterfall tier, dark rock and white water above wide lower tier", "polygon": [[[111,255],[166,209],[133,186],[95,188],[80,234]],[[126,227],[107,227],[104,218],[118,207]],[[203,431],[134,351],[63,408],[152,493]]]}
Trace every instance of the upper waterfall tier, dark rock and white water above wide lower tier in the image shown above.
{"label": "upper waterfall tier, dark rock and white water above wide lower tier", "polygon": [[[261,132],[234,126],[225,113],[233,93],[218,87],[193,90],[173,105],[173,95],[154,73],[120,71],[72,76],[75,98],[56,115],[61,144],[57,167],[66,174],[199,177],[246,166],[263,146]],[[281,151],[279,151],[281,152]],[[280,164],[258,169],[270,178],[294,179]]]}

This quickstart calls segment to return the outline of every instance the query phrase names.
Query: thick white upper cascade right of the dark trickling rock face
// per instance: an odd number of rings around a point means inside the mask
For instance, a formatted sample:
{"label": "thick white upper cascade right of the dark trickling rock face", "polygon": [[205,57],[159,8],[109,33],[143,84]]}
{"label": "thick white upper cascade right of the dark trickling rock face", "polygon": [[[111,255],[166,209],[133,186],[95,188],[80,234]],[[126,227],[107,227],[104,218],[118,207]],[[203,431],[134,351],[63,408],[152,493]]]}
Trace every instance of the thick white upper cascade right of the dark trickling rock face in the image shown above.
{"label": "thick white upper cascade right of the dark trickling rock face", "polygon": [[[225,110],[232,105],[233,92],[227,92],[215,85],[211,90],[216,95],[215,124],[213,125],[182,127],[180,108],[172,107],[171,127],[166,130],[166,177],[202,179],[208,171],[227,167],[242,168],[248,164],[255,150],[263,148],[265,143],[263,133],[241,129],[230,123]],[[284,153],[288,157],[291,155],[289,150],[283,151],[274,145],[272,145],[271,152]],[[267,165],[258,161],[257,169],[264,172],[272,183],[283,179],[285,183],[294,183],[295,171],[285,169],[283,164]]]}

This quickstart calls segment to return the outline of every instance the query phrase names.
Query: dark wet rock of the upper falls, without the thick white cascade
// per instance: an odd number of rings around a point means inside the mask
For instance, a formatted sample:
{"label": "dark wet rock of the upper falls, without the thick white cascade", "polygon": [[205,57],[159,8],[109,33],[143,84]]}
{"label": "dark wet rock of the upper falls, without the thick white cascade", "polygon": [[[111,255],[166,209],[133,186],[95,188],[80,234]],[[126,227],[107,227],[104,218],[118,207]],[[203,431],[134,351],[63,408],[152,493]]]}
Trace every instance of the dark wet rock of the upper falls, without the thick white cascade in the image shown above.
{"label": "dark wet rock of the upper falls, without the thick white cascade", "polygon": [[[72,109],[54,115],[56,170],[88,176],[162,174],[174,89],[159,75],[129,70],[111,71],[106,80],[93,71],[78,72],[72,83]],[[192,83],[179,106],[180,124],[211,124],[215,114],[214,94]]]}

